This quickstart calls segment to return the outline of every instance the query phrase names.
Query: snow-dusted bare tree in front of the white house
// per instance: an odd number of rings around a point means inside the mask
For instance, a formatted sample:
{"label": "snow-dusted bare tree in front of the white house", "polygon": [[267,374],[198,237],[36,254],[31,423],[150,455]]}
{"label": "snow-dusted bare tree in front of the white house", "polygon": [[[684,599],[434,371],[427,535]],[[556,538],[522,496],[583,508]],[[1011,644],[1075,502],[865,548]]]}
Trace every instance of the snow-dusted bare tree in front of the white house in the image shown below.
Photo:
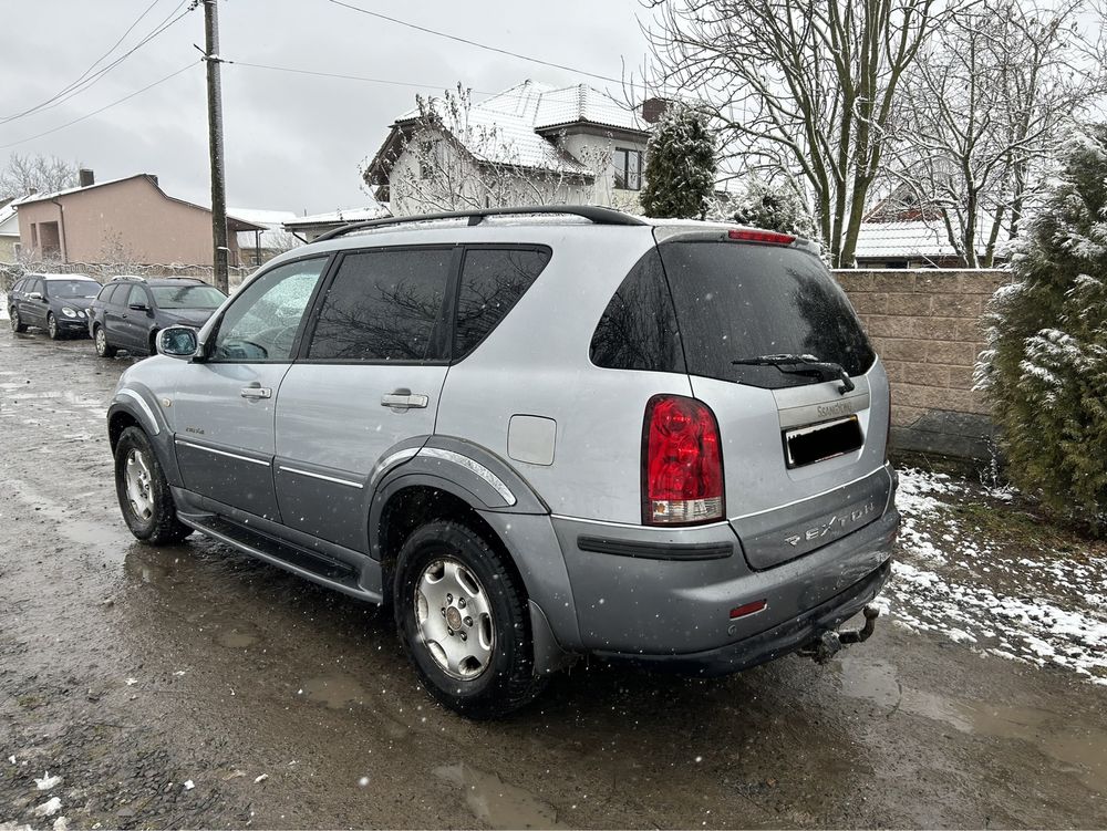
{"label": "snow-dusted bare tree in front of the white house", "polygon": [[417,115],[403,124],[401,142],[383,160],[386,176],[369,166],[361,172],[369,186],[387,184],[397,216],[591,201],[597,175],[610,162],[610,148],[575,159],[557,141],[537,136],[520,147],[461,85],[441,97],[417,95],[416,104]]}

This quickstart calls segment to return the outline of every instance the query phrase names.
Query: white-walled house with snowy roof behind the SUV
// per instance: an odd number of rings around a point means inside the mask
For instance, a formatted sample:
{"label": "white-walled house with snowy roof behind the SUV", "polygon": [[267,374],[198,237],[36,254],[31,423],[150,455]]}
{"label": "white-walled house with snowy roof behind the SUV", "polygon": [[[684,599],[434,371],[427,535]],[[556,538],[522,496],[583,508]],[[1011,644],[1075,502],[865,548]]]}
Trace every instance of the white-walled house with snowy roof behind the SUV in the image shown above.
{"label": "white-walled house with snowy roof behind the SUV", "polygon": [[421,102],[393,122],[363,175],[396,216],[566,202],[637,212],[649,128],[587,84],[525,81],[479,102]]}

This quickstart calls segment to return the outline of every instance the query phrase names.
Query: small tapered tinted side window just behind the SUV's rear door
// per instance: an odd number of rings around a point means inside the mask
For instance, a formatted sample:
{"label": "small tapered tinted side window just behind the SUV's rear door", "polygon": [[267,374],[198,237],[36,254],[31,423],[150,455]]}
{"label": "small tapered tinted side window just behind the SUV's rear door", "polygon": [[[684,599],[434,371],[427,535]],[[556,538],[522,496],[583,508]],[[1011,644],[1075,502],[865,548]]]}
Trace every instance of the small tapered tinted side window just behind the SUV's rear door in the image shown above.
{"label": "small tapered tinted side window just behind the SUV's rear door", "polygon": [[550,261],[549,249],[470,248],[457,297],[454,360],[465,357],[507,316]]}

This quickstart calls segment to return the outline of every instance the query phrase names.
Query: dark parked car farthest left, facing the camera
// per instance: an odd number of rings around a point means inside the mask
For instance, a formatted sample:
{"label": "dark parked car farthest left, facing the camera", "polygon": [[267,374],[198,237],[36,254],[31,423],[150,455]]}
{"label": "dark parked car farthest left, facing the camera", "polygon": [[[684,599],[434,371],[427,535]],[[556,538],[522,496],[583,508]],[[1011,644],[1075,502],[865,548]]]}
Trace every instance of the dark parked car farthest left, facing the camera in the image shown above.
{"label": "dark parked car farthest left, facing the camera", "polygon": [[12,332],[44,329],[53,340],[89,331],[89,307],[100,283],[86,274],[28,274],[8,294]]}

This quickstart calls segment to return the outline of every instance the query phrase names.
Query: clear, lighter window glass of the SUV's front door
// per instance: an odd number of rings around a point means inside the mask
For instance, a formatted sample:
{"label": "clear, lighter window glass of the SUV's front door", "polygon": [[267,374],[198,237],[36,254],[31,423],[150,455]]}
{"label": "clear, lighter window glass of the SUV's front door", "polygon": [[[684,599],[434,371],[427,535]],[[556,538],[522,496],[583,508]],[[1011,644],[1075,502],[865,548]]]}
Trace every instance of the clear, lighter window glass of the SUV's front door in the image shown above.
{"label": "clear, lighter window glass of the SUV's front door", "polygon": [[327,258],[300,260],[251,280],[219,324],[213,360],[249,363],[291,360],[300,321],[325,267]]}

